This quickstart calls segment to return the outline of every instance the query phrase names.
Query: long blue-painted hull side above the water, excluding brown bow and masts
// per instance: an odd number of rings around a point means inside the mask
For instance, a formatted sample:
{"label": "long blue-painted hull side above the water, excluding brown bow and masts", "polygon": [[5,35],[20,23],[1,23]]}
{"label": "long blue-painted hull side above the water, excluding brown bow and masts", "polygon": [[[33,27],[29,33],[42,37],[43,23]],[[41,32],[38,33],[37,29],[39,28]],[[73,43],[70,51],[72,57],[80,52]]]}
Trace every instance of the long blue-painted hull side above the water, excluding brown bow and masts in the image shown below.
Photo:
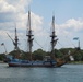
{"label": "long blue-painted hull side above the water, excluding brown bow and masts", "polygon": [[8,62],[9,67],[56,67],[56,61]]}

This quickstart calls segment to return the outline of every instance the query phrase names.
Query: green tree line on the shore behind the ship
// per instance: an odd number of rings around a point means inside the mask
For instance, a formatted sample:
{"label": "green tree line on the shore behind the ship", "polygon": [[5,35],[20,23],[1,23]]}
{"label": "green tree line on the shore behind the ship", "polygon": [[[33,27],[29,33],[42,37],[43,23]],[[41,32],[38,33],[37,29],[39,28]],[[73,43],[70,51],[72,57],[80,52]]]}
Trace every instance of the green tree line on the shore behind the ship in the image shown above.
{"label": "green tree line on the shore behind the ship", "polygon": [[[55,49],[54,54],[56,58],[62,58],[67,55],[70,54],[73,56],[74,61],[83,61],[83,50],[75,50],[74,48],[61,48],[61,49]],[[21,59],[29,59],[29,54],[25,52],[23,50],[13,50],[11,52],[9,52],[9,55],[12,55],[14,58],[21,58]],[[45,56],[50,56],[49,51],[45,51],[43,49],[37,49],[35,51],[32,52],[32,58],[33,60],[43,60]],[[0,60],[4,60],[5,59],[5,55],[4,54],[0,54]],[[69,57],[66,58],[67,61],[70,61]]]}

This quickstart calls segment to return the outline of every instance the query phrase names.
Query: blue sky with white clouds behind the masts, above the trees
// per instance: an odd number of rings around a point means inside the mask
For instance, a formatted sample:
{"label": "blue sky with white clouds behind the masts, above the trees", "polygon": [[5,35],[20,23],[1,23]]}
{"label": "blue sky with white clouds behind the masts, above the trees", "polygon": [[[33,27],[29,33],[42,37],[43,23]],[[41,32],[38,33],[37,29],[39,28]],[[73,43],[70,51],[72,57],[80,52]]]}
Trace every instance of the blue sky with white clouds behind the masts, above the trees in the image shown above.
{"label": "blue sky with white clouds behind the masts, above the trees", "polygon": [[[27,50],[26,30],[31,9],[31,22],[34,35],[33,51],[42,48],[50,50],[50,28],[55,15],[55,31],[58,38],[55,48],[74,48],[80,40],[83,49],[83,0],[0,0],[0,44],[7,51],[14,49],[14,30],[17,28],[19,47]],[[78,40],[73,40],[79,37]],[[4,52],[0,45],[0,54]]]}

